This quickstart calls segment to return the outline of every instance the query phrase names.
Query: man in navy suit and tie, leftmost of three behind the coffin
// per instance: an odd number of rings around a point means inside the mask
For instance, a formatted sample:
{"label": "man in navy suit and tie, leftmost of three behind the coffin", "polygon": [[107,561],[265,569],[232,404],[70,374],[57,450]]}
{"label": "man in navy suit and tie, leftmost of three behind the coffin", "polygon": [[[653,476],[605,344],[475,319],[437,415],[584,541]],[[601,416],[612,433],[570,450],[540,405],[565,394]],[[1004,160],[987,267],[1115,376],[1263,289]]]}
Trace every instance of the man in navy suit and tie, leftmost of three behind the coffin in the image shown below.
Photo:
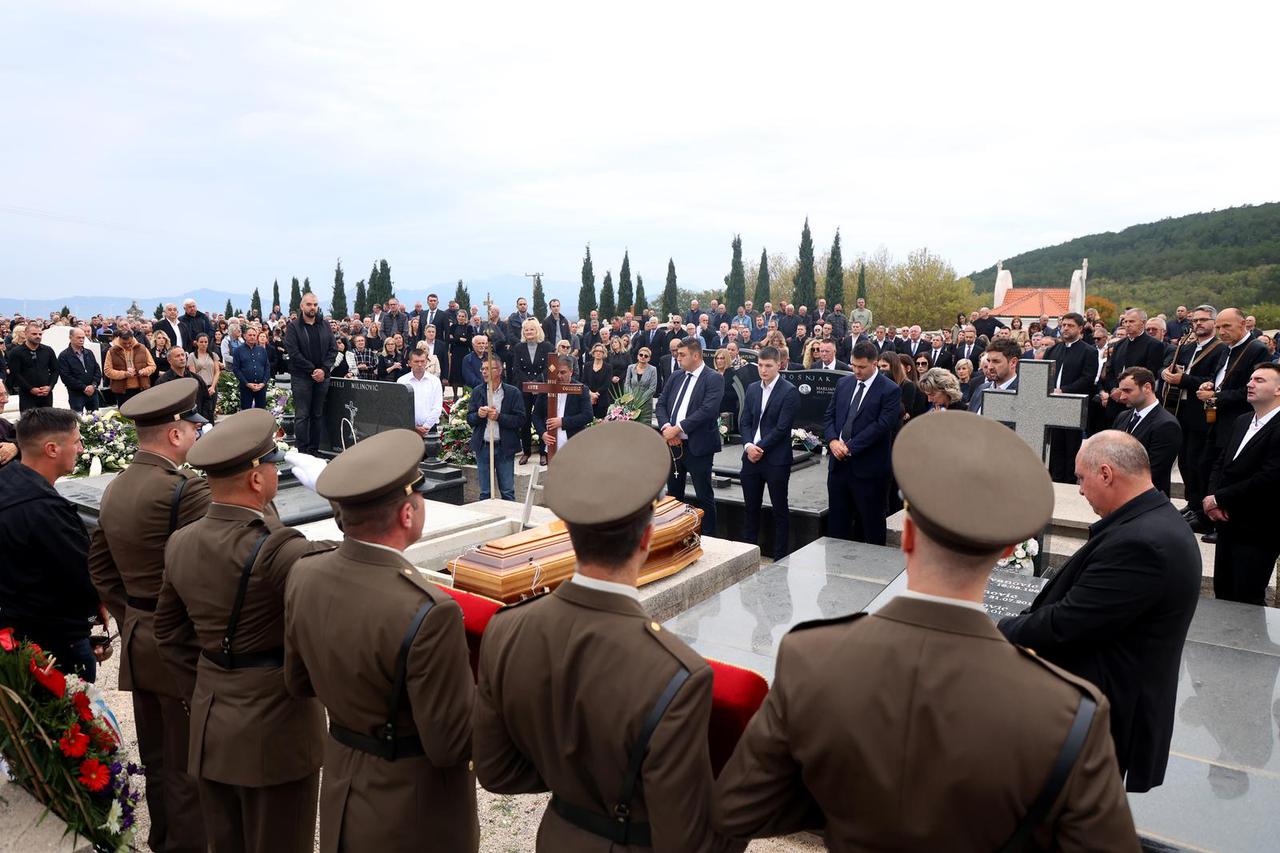
{"label": "man in navy suit and tie, leftmost of three behind the coffin", "polygon": [[692,475],[695,503],[703,510],[703,534],[716,535],[712,459],[721,448],[719,403],[724,380],[703,361],[703,343],[687,337],[676,350],[680,370],[671,374],[658,397],[658,423],[673,460],[667,494],[685,500],[685,480]]}

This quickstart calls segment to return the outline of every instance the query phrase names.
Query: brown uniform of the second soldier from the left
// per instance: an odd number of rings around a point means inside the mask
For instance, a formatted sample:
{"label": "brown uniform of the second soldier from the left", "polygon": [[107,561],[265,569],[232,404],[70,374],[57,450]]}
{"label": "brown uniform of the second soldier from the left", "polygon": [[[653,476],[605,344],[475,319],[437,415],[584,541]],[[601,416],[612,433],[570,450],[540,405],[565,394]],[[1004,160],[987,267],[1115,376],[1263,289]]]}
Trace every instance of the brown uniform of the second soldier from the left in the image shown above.
{"label": "brown uniform of the second soldier from the left", "polygon": [[298,557],[335,546],[214,503],[165,548],[156,639],[191,697],[188,768],[218,853],[315,845],[324,707],[284,686],[284,583]]}

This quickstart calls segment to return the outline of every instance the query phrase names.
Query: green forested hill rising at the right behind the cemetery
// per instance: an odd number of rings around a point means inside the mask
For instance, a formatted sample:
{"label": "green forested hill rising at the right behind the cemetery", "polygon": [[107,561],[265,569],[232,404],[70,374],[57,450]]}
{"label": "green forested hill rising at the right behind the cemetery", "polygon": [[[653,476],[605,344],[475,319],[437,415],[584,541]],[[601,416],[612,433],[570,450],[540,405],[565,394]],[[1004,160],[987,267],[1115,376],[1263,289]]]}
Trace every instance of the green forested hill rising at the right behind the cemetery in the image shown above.
{"label": "green forested hill rising at the right behind the cemetery", "polygon": [[[1280,264],[1280,202],[1171,216],[1120,232],[1076,237],[1006,257],[1005,269],[1012,273],[1014,287],[1066,287],[1083,257],[1089,259],[1091,283],[1101,278],[1121,288],[1190,274],[1276,265]],[[979,293],[989,293],[996,287],[996,266],[970,273],[969,278]],[[1203,297],[1188,293],[1183,298]],[[1277,297],[1263,293],[1262,298]]]}

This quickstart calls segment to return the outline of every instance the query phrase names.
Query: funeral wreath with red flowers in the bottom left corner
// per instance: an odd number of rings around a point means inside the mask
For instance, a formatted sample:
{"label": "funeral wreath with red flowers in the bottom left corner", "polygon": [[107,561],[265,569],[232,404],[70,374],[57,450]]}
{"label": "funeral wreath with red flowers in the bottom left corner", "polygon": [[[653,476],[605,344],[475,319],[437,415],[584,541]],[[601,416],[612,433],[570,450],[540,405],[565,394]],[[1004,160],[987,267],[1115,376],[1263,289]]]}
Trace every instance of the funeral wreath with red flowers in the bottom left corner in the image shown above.
{"label": "funeral wreath with red flowers in the bottom left corner", "polygon": [[0,753],[67,833],[95,850],[133,847],[142,768],[97,689],[58,670],[37,644],[0,630]]}

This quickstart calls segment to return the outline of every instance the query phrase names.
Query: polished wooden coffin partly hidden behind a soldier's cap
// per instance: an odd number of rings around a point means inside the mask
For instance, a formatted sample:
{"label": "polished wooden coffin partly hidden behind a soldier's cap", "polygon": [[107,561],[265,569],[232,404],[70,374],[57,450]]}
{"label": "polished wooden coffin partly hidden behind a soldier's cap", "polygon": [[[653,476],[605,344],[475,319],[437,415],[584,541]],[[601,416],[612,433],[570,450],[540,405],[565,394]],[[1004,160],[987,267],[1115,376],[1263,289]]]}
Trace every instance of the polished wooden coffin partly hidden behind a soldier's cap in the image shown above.
{"label": "polished wooden coffin partly hidden behind a soldier's cap", "polygon": [[[703,511],[673,497],[654,502],[654,535],[640,566],[640,585],[673,575],[703,556]],[[445,564],[458,589],[517,602],[554,589],[573,574],[577,560],[563,521],[556,520],[467,551]]]}

